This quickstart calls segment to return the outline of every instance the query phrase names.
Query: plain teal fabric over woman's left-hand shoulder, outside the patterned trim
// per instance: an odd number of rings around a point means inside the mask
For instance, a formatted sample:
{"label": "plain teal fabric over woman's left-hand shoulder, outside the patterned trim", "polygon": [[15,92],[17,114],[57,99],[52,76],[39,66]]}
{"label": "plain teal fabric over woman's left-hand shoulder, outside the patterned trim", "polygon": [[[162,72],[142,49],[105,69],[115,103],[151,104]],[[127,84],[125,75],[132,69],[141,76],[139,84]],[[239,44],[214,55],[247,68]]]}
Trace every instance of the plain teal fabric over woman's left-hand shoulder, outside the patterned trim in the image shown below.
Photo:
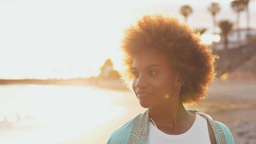
{"label": "plain teal fabric over woman's left-hand shoulder, outside the patterned trim", "polygon": [[133,128],[133,125],[137,119],[137,116],[111,132],[107,139],[107,144],[127,144],[129,142],[131,130]]}

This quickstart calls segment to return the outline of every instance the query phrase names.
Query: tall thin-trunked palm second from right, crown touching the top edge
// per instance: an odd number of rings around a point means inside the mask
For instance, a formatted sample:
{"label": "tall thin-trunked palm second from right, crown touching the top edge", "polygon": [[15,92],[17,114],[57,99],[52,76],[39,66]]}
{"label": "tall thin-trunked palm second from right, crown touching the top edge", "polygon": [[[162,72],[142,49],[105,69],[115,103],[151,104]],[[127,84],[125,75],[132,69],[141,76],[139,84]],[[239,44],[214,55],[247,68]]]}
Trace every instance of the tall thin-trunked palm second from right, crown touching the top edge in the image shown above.
{"label": "tall thin-trunked palm second from right, crown touching the top edge", "polygon": [[[234,0],[231,2],[231,7],[236,12],[236,29],[239,29],[240,12],[244,11],[245,6],[243,0]],[[238,32],[238,40],[240,40],[240,32]]]}

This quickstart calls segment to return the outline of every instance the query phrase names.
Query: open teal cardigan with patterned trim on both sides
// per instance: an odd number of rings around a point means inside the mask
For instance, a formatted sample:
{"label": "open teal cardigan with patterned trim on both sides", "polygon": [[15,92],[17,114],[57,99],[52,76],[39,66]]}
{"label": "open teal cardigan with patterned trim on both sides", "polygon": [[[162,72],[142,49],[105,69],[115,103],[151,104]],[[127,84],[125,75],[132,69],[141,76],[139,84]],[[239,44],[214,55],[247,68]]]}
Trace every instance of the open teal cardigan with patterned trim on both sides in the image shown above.
{"label": "open teal cardigan with patterned trim on both sides", "polygon": [[[225,124],[197,110],[187,110],[192,114],[204,116],[214,132],[216,144],[234,144],[233,136]],[[149,114],[148,110],[138,114],[123,126],[114,130],[107,140],[107,144],[149,144]]]}

